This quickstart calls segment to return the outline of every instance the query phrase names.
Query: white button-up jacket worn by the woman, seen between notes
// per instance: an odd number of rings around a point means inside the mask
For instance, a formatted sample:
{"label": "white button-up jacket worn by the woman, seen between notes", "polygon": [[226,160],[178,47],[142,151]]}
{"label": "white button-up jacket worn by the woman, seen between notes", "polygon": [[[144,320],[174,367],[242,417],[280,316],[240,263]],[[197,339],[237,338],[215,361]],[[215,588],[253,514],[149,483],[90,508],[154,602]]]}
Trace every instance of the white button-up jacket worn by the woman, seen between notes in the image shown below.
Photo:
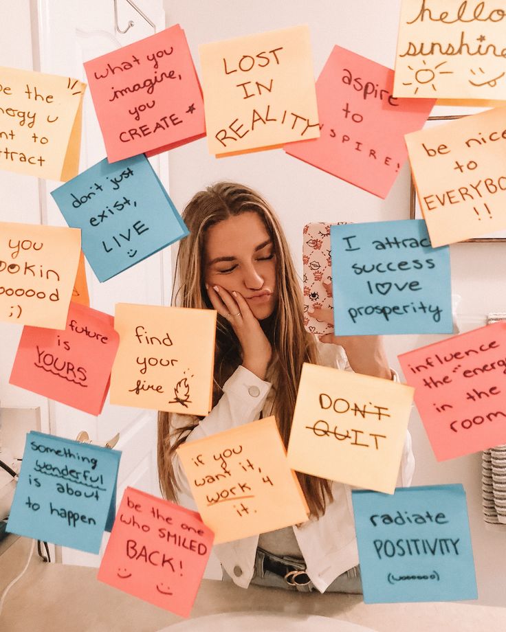
{"label": "white button-up jacket worn by the woman, seen between notes", "polygon": [[[320,364],[351,371],[342,347],[318,343]],[[393,379],[399,380],[393,372]],[[193,429],[186,441],[203,439],[218,432],[234,428],[270,414],[272,401],[269,394],[271,383],[259,379],[255,374],[239,366],[223,385],[223,395],[207,417]],[[173,415],[173,427],[188,424],[188,417]],[[188,481],[175,455],[174,472],[177,483],[184,493],[181,504],[196,510],[191,498]],[[411,449],[411,437],[406,433],[404,450],[399,468],[397,486],[407,487],[415,471],[415,458]],[[333,501],[327,504],[325,514],[311,517],[300,526],[293,526],[300,551],[307,565],[307,574],[320,592],[336,577],[358,565],[358,548],[351,504],[351,487],[332,483]],[[247,588],[254,572],[254,561],[259,536],[235,540],[214,546],[219,561],[236,585]]]}

